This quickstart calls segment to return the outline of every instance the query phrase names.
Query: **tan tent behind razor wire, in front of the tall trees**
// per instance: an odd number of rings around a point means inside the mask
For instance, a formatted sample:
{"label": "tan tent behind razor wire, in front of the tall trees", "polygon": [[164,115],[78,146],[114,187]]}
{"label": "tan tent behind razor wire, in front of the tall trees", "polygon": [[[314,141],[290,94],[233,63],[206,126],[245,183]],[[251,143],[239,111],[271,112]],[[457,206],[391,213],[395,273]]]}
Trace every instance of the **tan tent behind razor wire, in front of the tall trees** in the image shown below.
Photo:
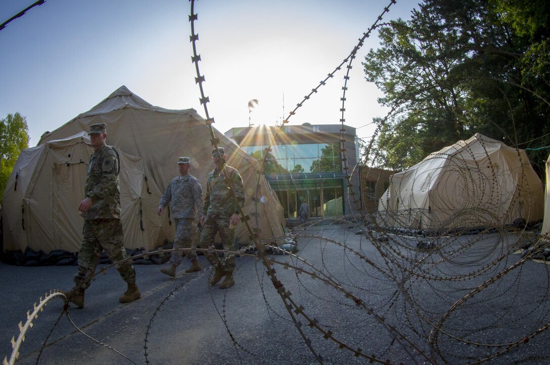
{"label": "tan tent behind razor wire, in front of the tall trees", "polygon": [[495,226],[543,216],[541,179],[524,150],[476,133],[394,174],[379,200],[385,226]]}

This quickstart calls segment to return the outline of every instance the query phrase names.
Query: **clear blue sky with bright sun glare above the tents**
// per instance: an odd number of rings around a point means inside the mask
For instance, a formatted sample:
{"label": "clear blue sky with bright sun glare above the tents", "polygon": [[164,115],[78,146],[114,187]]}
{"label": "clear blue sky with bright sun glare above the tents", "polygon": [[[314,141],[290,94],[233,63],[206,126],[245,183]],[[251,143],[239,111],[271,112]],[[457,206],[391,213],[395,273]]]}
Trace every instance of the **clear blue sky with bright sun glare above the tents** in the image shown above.
{"label": "clear blue sky with bright sun glare above the tents", "polygon": [[[0,23],[36,0],[1,0]],[[418,0],[397,0],[383,21],[409,19]],[[221,132],[276,125],[348,57],[390,0],[195,1],[199,68],[208,114]],[[30,143],[125,85],[167,109],[205,117],[187,0],[46,0],[0,31],[0,117],[26,117]],[[345,124],[359,138],[387,109],[365,81],[361,61],[379,46],[377,32],[357,52],[348,81]],[[335,72],[289,125],[340,123],[345,68]],[[251,111],[251,99],[259,104]]]}

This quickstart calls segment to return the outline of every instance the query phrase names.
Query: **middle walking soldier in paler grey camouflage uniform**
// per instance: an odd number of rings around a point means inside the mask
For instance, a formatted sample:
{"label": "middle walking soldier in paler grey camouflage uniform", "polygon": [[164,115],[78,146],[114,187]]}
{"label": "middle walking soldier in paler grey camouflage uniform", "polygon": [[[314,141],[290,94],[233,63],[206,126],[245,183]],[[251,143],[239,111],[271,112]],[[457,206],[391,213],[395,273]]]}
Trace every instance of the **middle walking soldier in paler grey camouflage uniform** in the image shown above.
{"label": "middle walking soldier in paler grey camouflage uniform", "polygon": [[[201,267],[197,261],[195,246],[191,238],[191,225],[195,219],[195,205],[202,205],[202,187],[199,181],[189,173],[189,158],[180,157],[178,159],[179,176],[172,179],[166,192],[162,194],[158,202],[158,215],[161,215],[164,207],[172,203],[172,217],[175,220],[175,238],[174,249],[186,248],[193,249],[186,251],[185,256],[191,262],[191,267],[186,269],[186,273],[200,271]],[[173,251],[170,257],[169,266],[162,268],[161,272],[168,276],[175,277],[175,269],[182,263],[182,251]]]}

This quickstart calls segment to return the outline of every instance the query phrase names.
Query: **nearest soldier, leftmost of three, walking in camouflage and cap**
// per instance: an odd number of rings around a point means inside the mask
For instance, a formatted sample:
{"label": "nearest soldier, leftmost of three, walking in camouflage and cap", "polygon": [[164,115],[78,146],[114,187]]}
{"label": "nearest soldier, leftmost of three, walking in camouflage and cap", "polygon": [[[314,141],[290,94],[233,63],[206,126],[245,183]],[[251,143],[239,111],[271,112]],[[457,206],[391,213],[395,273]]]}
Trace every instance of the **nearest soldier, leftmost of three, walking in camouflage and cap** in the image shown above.
{"label": "nearest soldier, leftmost of three, walking in camouflage and cap", "polygon": [[[105,123],[91,125],[89,135],[94,153],[88,166],[86,198],[78,207],[84,218],[84,230],[78,255],[78,272],[74,277],[76,286],[65,293],[68,300],[80,308],[84,307],[84,291],[90,287],[90,279],[87,278],[95,272],[101,250],[105,249],[112,262],[126,258],[120,222],[119,156],[113,147],[105,144]],[[128,303],[140,298],[131,263],[119,263],[117,270],[128,284],[128,290],[119,298],[120,302]]]}

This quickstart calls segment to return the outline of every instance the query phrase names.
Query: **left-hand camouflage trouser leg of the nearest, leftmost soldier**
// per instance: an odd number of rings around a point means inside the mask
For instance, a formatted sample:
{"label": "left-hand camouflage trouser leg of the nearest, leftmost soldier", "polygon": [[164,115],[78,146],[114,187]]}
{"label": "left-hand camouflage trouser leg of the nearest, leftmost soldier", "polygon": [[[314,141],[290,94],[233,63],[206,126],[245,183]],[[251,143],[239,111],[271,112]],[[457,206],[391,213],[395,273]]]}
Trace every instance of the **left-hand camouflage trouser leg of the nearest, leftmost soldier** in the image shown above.
{"label": "left-hand camouflage trouser leg of the nearest, leftmost soldier", "polygon": [[97,229],[94,221],[84,220],[82,244],[78,253],[78,271],[74,276],[76,285],[81,289],[90,287],[90,280],[86,279],[96,271],[100,261],[101,246],[96,237]]}

